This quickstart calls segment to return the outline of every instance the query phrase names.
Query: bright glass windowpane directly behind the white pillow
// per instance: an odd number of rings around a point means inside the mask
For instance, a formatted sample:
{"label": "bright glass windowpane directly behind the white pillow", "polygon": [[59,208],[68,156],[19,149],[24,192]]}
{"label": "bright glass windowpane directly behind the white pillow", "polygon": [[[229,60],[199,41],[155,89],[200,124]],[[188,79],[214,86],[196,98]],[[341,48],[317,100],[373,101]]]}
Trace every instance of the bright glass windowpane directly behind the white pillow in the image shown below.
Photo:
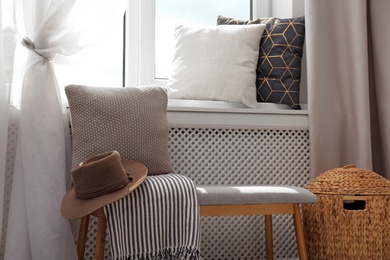
{"label": "bright glass windowpane directly behind the white pillow", "polygon": [[217,16],[250,19],[250,0],[156,0],[155,78],[166,79],[175,24],[216,25]]}

